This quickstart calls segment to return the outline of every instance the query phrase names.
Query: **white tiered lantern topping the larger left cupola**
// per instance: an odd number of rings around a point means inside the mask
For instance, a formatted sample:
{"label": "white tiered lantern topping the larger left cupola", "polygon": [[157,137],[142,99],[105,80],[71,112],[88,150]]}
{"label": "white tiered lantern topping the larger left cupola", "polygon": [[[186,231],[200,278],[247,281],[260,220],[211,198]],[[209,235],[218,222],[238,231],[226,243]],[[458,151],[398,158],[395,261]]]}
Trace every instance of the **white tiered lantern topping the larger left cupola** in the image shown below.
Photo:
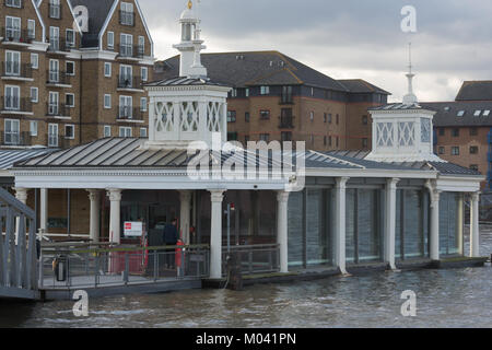
{"label": "white tiered lantern topping the larger left cupola", "polygon": [[207,78],[207,69],[201,65],[200,51],[207,47],[200,38],[200,20],[191,0],[179,19],[181,40],[173,45],[180,51],[179,77]]}

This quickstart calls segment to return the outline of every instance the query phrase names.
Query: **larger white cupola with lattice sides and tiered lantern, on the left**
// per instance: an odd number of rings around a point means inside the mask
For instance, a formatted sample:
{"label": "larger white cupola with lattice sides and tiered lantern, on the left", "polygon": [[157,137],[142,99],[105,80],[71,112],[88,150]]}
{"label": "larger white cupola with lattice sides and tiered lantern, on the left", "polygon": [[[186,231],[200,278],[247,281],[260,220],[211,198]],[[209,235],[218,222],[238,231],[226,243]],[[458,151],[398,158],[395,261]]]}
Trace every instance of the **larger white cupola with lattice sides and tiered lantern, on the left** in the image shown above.
{"label": "larger white cupola with lattice sides and tiered lantern, on the left", "polygon": [[181,13],[179,77],[151,82],[149,94],[149,141],[145,149],[187,149],[194,141],[209,148],[227,138],[227,94],[231,88],[207,78],[201,66],[200,20],[191,1]]}

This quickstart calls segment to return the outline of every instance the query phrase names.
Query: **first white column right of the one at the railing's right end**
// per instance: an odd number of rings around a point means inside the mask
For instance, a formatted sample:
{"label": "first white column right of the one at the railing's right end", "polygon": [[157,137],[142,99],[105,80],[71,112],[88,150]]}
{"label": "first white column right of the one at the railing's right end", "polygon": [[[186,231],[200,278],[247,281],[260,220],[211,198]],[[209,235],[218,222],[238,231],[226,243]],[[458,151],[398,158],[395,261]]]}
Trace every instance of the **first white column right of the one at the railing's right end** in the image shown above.
{"label": "first white column right of the one at the railing's right end", "polygon": [[335,265],[342,275],[345,268],[345,191],[349,177],[337,178],[335,186]]}

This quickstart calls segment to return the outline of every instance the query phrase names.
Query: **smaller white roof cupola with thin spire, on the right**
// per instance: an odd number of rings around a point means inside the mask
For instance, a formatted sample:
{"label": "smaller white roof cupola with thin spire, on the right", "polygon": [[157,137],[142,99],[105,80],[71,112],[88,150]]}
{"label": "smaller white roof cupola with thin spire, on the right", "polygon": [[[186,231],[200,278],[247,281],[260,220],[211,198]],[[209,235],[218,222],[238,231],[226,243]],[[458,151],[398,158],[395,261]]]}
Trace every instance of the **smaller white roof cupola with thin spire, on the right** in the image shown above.
{"label": "smaller white roof cupola with thin spire, on the right", "polygon": [[432,120],[436,112],[422,107],[413,93],[411,56],[409,68],[403,102],[368,109],[373,118],[373,149],[366,160],[444,162],[433,151]]}

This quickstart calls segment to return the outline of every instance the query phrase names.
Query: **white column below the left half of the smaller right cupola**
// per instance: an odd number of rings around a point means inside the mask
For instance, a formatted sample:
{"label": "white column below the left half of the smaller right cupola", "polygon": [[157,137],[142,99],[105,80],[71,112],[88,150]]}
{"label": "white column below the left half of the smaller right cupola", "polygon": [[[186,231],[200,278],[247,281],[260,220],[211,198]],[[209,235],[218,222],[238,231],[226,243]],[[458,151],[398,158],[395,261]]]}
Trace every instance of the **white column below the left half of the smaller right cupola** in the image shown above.
{"label": "white column below the left half of the smaller right cupola", "polygon": [[385,217],[385,261],[391,270],[396,270],[395,236],[396,236],[396,191],[399,178],[386,180],[386,217]]}

